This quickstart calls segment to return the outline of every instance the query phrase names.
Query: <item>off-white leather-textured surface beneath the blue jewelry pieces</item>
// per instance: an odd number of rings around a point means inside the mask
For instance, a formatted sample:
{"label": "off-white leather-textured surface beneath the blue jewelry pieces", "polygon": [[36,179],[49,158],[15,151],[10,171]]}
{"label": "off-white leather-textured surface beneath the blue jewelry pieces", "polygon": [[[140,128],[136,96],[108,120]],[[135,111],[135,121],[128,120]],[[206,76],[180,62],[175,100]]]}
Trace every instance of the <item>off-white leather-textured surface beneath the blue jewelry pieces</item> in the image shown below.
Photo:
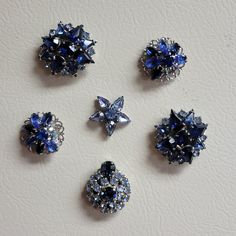
{"label": "off-white leather-textured surface beneath the blue jewelry pieces", "polygon": [[[0,1],[0,235],[236,235],[236,2]],[[41,36],[63,22],[84,24],[96,64],[79,78],[48,77],[36,59]],[[169,36],[188,63],[158,87],[137,61]],[[132,123],[109,139],[91,125],[97,95],[125,97]],[[194,108],[209,123],[207,149],[192,165],[169,166],[153,149],[154,124],[170,109]],[[37,159],[18,141],[25,118],[52,111],[65,142]],[[132,184],[127,207],[102,216],[83,197],[87,178],[113,160]]]}

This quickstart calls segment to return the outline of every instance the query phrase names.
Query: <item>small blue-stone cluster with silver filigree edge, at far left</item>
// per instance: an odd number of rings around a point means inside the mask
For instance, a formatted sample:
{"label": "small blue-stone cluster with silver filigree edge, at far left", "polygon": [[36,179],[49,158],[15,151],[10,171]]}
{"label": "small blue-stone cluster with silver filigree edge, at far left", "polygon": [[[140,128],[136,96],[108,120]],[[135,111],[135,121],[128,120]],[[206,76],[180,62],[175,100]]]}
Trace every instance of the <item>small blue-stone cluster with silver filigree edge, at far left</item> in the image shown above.
{"label": "small blue-stone cluster with silver filigree edge, at far left", "polygon": [[57,152],[64,141],[64,127],[51,112],[33,113],[21,128],[20,139],[31,152]]}

